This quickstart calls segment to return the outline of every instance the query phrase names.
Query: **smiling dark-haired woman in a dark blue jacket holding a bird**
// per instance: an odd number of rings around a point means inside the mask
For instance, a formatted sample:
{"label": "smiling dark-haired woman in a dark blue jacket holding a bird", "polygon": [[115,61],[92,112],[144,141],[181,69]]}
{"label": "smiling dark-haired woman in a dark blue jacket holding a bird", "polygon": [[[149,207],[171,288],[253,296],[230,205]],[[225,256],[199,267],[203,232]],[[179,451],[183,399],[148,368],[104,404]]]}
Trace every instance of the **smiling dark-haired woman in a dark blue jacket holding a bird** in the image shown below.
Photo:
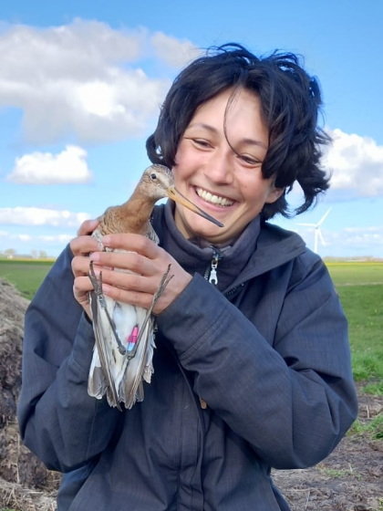
{"label": "smiling dark-haired woman in a dark blue jacket holding a bird", "polygon": [[[320,92],[294,55],[225,45],[174,81],[147,142],[152,162],[224,224],[179,204],[155,208],[160,246],[140,235],[98,252],[85,222],[26,315],[23,440],[64,474],[59,511],[287,510],[271,467],[330,454],[357,414],[347,320],[320,257],[266,220],[302,213],[328,186]],[[88,396],[94,336],[89,253],[109,297],[154,312],[155,374],[119,412]],[[140,276],[109,271],[129,269]]]}

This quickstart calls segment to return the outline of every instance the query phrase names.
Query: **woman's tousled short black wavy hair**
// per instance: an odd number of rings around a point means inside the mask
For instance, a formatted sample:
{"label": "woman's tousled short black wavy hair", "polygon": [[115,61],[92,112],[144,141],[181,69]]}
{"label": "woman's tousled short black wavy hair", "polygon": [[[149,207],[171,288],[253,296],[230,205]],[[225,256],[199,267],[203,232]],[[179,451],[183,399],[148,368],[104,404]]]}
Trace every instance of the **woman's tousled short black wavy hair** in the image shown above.
{"label": "woman's tousled short black wavy hair", "polygon": [[[150,161],[172,167],[181,137],[195,111],[225,89],[248,89],[260,99],[269,130],[269,148],[262,172],[274,176],[275,187],[285,193],[275,203],[264,204],[265,220],[274,214],[292,216],[316,203],[328,188],[329,177],[320,166],[322,147],[331,141],[318,127],[322,105],[319,84],[292,53],[274,51],[255,57],[245,47],[229,43],[208,50],[184,68],[174,80],[162,105],[157,129],[146,147]],[[230,103],[230,101],[229,101]],[[286,193],[300,184],[305,202],[289,211]]]}

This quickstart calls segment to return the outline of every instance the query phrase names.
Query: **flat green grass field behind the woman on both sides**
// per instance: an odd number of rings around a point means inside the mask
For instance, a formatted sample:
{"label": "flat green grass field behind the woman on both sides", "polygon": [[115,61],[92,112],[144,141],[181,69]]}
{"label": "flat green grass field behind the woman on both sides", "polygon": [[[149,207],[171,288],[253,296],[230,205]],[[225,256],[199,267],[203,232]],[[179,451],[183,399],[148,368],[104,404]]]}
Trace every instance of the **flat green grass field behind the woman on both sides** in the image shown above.
{"label": "flat green grass field behind the woman on both sides", "polygon": [[[0,260],[0,277],[24,297],[36,293],[53,261]],[[383,263],[328,263],[349,324],[354,376],[383,394]]]}

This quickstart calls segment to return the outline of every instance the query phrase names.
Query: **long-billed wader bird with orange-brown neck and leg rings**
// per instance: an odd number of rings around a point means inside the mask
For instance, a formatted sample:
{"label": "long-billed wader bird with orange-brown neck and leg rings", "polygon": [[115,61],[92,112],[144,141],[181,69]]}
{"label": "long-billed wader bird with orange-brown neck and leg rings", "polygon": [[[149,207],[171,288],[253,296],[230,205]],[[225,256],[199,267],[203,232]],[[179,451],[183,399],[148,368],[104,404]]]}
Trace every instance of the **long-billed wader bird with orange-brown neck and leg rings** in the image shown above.
{"label": "long-billed wader bird with orange-brown neck and leg rings", "polygon": [[[223,226],[175,189],[171,171],[167,167],[151,165],[143,173],[129,200],[120,206],[109,207],[98,218],[98,228],[93,236],[98,240],[100,249],[105,250],[101,243],[102,236],[116,233],[145,235],[158,244],[158,236],[150,224],[150,215],[154,204],[164,197],[169,197],[214,224]],[[88,377],[90,396],[101,399],[106,393],[109,405],[119,410],[120,402],[124,402],[125,408],[130,409],[136,401],[143,400],[142,381],[150,383],[153,372],[151,312],[171,280],[170,270],[169,266],[153,297],[151,307],[144,309],[106,297],[102,292],[101,272],[96,276],[93,264],[90,263],[89,278],[94,288],[90,293],[90,308],[96,338]]]}

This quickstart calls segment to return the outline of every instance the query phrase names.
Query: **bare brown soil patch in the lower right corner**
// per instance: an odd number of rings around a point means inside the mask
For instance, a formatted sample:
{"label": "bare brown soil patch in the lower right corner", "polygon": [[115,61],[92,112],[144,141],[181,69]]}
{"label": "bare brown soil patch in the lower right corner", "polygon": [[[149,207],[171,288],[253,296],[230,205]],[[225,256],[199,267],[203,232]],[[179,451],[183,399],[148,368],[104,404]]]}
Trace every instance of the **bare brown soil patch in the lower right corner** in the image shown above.
{"label": "bare brown soil patch in the lower right corner", "polygon": [[[362,424],[383,413],[383,396],[363,393],[358,386]],[[305,470],[274,471],[292,511],[382,511],[383,440],[370,433],[350,433],[320,464]]]}

